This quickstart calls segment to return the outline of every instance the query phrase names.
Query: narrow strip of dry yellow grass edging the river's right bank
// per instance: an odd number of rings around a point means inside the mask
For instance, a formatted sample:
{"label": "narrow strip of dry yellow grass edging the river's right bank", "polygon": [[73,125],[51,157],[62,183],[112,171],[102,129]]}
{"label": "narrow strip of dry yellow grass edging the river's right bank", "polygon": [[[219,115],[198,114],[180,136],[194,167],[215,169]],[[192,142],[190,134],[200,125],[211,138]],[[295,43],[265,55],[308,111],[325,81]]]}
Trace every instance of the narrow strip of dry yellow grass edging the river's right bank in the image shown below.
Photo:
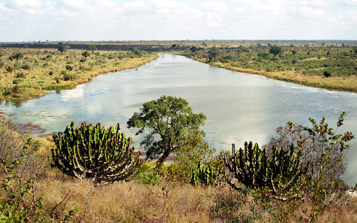
{"label": "narrow strip of dry yellow grass edging the river's right bank", "polygon": [[[171,51],[165,53],[183,55],[196,61],[207,63],[207,58],[198,58],[185,51]],[[319,87],[328,90],[357,92],[357,75],[324,77],[321,75],[304,75],[298,70],[267,71],[264,69],[245,69],[242,67],[232,66],[232,63],[209,62],[207,64],[237,72],[262,75],[275,80],[291,82],[304,86]]]}

